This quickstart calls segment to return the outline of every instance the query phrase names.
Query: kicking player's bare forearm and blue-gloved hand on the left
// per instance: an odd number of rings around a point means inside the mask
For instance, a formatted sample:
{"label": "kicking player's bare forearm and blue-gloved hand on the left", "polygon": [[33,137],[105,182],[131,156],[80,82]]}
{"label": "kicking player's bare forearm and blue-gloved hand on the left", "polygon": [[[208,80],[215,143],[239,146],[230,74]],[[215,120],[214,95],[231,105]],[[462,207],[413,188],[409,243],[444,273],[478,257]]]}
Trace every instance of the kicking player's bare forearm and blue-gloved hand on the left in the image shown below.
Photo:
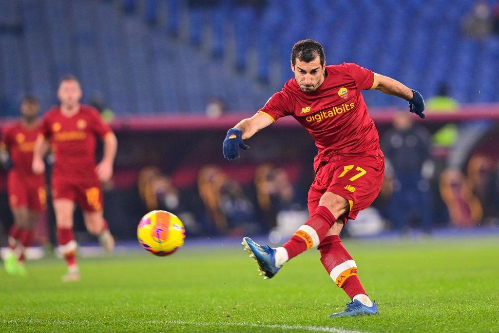
{"label": "kicking player's bare forearm and blue-gloved hand on the left", "polygon": [[227,136],[224,140],[224,157],[229,161],[239,158],[239,148],[247,150],[247,146],[243,139],[249,139],[259,130],[273,123],[266,114],[257,112],[251,118],[241,120],[236,126],[227,131]]}

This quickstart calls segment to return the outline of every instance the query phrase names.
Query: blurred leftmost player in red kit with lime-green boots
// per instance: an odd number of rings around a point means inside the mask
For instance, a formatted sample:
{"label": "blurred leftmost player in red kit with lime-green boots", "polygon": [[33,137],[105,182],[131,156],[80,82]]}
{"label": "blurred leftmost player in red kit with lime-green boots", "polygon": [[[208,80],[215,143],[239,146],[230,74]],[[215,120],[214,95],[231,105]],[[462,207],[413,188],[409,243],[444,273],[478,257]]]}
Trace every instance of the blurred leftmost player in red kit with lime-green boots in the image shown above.
{"label": "blurred leftmost player in red kit with lime-green boots", "polygon": [[[38,100],[25,96],[20,106],[21,119],[5,128],[0,146],[1,162],[8,170],[8,203],[14,217],[4,261],[5,271],[11,275],[26,274],[24,249],[31,243],[35,223],[45,210],[45,177],[31,170],[34,142],[40,133],[39,110]],[[48,145],[40,148],[46,152]]]}

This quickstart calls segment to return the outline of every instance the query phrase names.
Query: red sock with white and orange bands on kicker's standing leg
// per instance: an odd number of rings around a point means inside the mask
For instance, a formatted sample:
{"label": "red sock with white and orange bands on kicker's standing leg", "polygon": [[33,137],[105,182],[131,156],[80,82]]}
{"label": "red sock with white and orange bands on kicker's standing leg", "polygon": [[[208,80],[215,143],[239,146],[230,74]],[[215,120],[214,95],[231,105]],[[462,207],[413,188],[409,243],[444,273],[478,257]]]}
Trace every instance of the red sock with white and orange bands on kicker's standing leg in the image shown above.
{"label": "red sock with white and orange bands on kicker's standing leg", "polygon": [[324,238],[317,249],[320,251],[320,261],[327,273],[350,299],[359,294],[367,295],[357,276],[357,264],[341,244],[338,235]]}

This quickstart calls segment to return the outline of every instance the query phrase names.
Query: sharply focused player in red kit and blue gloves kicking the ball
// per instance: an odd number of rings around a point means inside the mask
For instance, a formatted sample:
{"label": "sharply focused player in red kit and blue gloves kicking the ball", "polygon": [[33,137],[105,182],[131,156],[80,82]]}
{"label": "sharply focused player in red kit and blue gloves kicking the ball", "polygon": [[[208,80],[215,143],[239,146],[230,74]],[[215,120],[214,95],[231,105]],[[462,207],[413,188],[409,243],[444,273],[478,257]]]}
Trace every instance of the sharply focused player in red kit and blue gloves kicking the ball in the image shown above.
{"label": "sharply focused player in red kit and blue gloves kicking the ball", "polygon": [[352,302],[330,317],[377,314],[357,276],[357,264],[341,244],[339,234],[347,219],[369,207],[383,182],[385,163],[378,131],[361,94],[377,89],[409,101],[409,110],[421,118],[425,104],[417,91],[354,63],[325,65],[322,46],[311,39],[294,44],[291,51],[294,78],[272,95],[254,116],[227,132],[224,157],[239,158],[248,149],[243,139],[252,137],[280,117],[290,115],[307,129],[318,149],[316,178],[308,192],[310,218],[283,246],[260,246],[250,238],[243,246],[255,258],[260,275],[272,278],[288,260],[313,247],[333,282]]}

